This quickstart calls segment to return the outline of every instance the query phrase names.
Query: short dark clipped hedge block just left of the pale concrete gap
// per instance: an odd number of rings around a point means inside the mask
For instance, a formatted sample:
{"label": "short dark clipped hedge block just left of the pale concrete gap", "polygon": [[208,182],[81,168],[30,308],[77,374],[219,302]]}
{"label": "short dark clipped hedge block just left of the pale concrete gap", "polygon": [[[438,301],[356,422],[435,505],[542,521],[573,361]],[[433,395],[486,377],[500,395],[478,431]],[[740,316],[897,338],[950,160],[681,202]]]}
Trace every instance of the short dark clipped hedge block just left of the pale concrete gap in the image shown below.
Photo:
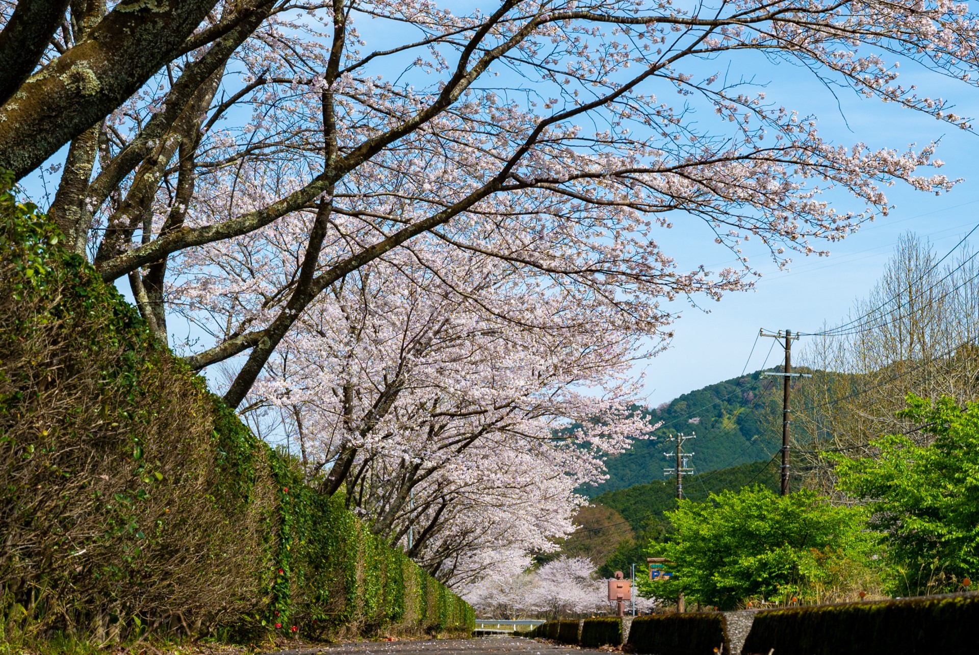
{"label": "short dark clipped hedge block just left of the pale concrete gap", "polygon": [[629,628],[629,645],[634,653],[656,655],[711,655],[716,648],[730,651],[724,616],[714,612],[636,617]]}

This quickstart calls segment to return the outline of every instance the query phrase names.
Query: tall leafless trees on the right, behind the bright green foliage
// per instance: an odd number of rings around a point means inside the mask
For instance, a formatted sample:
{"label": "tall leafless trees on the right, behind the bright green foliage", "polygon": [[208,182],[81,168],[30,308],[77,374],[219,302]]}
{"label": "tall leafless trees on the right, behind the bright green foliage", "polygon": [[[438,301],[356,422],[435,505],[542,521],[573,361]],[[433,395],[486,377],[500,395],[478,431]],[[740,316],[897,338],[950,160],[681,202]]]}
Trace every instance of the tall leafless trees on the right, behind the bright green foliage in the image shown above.
{"label": "tall leafless trees on the right, behind the bright green foliage", "polygon": [[903,237],[869,296],[804,351],[815,377],[800,386],[798,421],[815,441],[797,445],[820,488],[833,488],[821,449],[858,456],[884,434],[925,439],[896,416],[908,394],[979,399],[977,255],[966,245],[940,260],[932,244]]}

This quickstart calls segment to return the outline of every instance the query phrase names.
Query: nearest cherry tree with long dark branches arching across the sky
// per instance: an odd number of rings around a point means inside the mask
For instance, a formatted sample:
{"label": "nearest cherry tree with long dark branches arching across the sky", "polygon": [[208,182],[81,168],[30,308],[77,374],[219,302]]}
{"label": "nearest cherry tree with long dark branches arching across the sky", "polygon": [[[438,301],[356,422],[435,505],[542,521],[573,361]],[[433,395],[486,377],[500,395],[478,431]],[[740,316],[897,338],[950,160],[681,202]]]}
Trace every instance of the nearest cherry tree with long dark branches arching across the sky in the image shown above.
{"label": "nearest cherry tree with long dark branches arching across the sky", "polygon": [[[746,239],[784,262],[886,213],[895,180],[952,185],[915,172],[938,164],[932,145],[827,143],[804,105],[705,72],[712,60],[760,52],[961,127],[947,103],[901,85],[897,65],[979,79],[974,17],[944,0],[246,2],[195,34],[112,116],[85,115],[51,214],[106,280],[128,277],[162,338],[184,302],[170,267],[186,273],[203,250],[270,227],[288,239],[296,265],[261,311],[188,353],[197,368],[247,355],[225,396],[235,406],[317,298],[423,235],[529,285],[600,297],[655,333],[661,299],[750,285]],[[9,127],[21,110],[3,111]],[[830,188],[855,210],[821,200]],[[685,216],[742,264],[678,270],[656,234]]]}

